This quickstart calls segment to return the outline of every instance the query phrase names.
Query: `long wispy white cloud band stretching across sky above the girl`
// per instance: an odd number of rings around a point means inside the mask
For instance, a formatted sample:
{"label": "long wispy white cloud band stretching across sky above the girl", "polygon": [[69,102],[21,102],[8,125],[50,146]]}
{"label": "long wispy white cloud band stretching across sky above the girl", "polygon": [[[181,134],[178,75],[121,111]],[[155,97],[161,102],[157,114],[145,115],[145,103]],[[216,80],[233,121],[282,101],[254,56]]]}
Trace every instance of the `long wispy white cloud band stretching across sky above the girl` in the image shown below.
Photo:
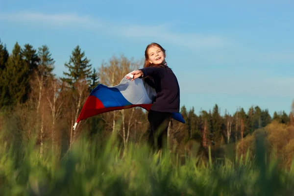
{"label": "long wispy white cloud band stretching across sky above the girl", "polygon": [[289,64],[294,61],[294,51],[263,52],[248,48],[238,41],[217,34],[179,33],[172,24],[134,25],[103,21],[89,15],[74,13],[45,14],[36,12],[0,13],[0,21],[28,23],[45,28],[91,29],[94,33],[137,39],[138,41],[160,40],[195,52],[195,59],[204,64],[235,64],[236,66]]}

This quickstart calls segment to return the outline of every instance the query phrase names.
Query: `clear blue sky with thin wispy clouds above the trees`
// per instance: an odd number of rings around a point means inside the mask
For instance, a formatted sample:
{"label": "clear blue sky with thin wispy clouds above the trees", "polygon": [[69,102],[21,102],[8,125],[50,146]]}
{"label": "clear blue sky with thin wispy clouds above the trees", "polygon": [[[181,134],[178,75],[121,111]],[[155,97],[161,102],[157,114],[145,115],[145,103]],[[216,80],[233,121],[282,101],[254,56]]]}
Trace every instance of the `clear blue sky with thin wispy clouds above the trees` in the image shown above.
{"label": "clear blue sky with thin wispy clouds above the trees", "polygon": [[147,44],[167,50],[181,105],[221,113],[253,105],[291,111],[291,0],[0,0],[0,39],[48,45],[55,73],[80,45],[94,67],[112,55],[141,59]]}

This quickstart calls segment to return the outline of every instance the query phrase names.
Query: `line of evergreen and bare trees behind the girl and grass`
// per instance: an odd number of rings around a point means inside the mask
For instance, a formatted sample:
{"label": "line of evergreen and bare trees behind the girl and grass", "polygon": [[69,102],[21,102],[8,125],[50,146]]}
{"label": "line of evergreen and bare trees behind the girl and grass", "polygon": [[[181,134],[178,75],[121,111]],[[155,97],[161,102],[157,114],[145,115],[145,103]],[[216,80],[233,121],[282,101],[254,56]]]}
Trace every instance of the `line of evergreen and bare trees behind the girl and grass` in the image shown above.
{"label": "line of evergreen and bare trees behind the girl and grass", "polygon": [[[125,73],[142,67],[143,60],[121,55],[112,56],[100,66],[93,66],[85,52],[77,45],[68,62],[66,72],[57,77],[54,58],[47,45],[35,49],[30,44],[21,47],[17,42],[11,52],[0,41],[0,110],[2,114],[18,115],[18,135],[29,140],[36,137],[40,152],[46,148],[71,148],[80,134],[98,137],[103,144],[105,136],[117,134],[126,146],[129,142],[140,144],[147,140],[147,113],[141,108],[130,108],[100,114],[78,123],[79,112],[90,92],[99,84],[119,84]],[[274,112],[252,106],[245,111],[240,107],[233,114],[220,114],[215,104],[212,110],[196,112],[194,107],[180,111],[187,123],[173,122],[170,141],[178,149],[190,141],[202,147],[237,143],[256,129],[272,121],[293,123],[292,113]],[[0,125],[1,126],[1,125]],[[42,153],[41,153],[42,154]]]}

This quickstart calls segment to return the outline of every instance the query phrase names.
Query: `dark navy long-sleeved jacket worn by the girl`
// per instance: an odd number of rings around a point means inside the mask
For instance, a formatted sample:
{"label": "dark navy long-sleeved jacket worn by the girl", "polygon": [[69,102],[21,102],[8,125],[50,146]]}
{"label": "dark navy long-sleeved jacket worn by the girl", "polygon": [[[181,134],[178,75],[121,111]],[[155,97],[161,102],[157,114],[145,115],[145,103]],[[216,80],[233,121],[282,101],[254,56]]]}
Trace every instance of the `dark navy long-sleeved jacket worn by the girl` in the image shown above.
{"label": "dark navy long-sleeved jacket worn by the girl", "polygon": [[150,76],[151,80],[144,80],[157,93],[151,106],[151,110],[159,112],[179,112],[180,110],[180,87],[175,74],[168,66],[156,66],[140,69],[143,77]]}

